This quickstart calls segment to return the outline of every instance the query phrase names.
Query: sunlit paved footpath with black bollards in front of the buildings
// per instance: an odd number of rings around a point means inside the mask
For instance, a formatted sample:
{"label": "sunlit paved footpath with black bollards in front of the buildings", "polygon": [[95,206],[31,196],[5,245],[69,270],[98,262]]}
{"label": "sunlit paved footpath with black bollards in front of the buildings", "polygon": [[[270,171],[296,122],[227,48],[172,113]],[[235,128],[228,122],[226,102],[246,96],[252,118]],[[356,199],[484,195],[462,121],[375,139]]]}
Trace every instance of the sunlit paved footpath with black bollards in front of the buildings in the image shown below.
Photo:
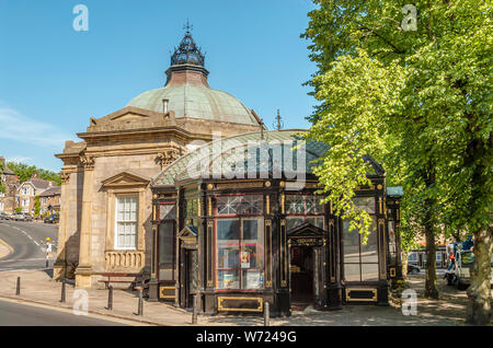
{"label": "sunlit paved footpath with black bollards in front of the buildings", "polygon": [[[16,278],[21,277],[21,294],[15,295]],[[346,305],[340,311],[316,311],[307,308],[286,318],[271,318],[272,326],[456,326],[465,324],[467,294],[439,282],[440,299],[426,300],[424,277],[410,276],[409,285],[417,293],[417,315],[403,315],[399,305]],[[73,285],[67,285],[66,303],[60,303],[61,283],[51,279],[51,269],[26,269],[0,272],[0,302],[22,301],[30,305],[80,310],[83,298]],[[111,320],[124,320],[133,325],[191,325],[192,313],[171,303],[144,302],[144,315],[136,315],[138,294],[130,290],[114,290],[113,311],[106,309],[107,290],[87,291],[88,314]],[[0,305],[0,316],[1,316]],[[41,324],[43,322],[39,322]],[[199,315],[200,326],[262,326],[261,315]]]}

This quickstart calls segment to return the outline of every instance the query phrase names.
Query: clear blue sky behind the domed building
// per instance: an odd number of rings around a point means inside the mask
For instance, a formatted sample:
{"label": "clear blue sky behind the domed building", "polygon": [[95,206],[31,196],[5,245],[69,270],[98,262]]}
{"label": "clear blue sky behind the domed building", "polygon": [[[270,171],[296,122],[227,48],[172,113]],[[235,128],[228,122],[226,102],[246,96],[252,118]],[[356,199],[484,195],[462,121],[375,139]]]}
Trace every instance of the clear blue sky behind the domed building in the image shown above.
{"label": "clear blue sky behind the domed building", "polygon": [[[88,31],[73,22],[88,9]],[[300,34],[311,0],[0,0],[0,155],[60,172],[66,140],[90,117],[161,88],[185,33],[206,53],[208,82],[273,129],[307,128],[317,71]],[[76,23],[76,24],[77,24]]]}

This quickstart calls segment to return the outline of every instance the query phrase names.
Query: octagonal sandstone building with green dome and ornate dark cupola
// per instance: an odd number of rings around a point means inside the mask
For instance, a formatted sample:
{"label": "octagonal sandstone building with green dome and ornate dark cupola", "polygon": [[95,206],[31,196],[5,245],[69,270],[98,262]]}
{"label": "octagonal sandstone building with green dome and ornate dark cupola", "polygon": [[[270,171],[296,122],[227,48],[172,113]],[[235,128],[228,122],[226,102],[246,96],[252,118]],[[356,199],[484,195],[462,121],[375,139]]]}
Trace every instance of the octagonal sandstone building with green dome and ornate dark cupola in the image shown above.
{"label": "octagonal sandstone building with green dome and ornate dark cupola", "polygon": [[149,272],[152,194],[163,167],[213,139],[265,128],[252,109],[211,89],[204,55],[186,32],[171,56],[163,88],[124,108],[90,118],[62,153],[59,255],[55,276],[76,268],[78,287],[101,274]]}

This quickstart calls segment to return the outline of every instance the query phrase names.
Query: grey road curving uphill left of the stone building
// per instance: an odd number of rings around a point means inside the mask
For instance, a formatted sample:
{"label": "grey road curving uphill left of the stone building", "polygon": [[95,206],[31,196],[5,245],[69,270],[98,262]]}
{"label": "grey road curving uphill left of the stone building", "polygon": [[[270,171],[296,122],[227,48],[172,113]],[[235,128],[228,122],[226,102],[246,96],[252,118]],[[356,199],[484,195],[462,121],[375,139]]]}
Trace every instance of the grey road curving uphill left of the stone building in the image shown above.
{"label": "grey road curving uphill left of the stone building", "polygon": [[58,225],[0,220],[0,239],[13,248],[12,253],[0,259],[0,271],[45,268],[45,239],[48,236],[55,242],[53,255],[56,255]]}

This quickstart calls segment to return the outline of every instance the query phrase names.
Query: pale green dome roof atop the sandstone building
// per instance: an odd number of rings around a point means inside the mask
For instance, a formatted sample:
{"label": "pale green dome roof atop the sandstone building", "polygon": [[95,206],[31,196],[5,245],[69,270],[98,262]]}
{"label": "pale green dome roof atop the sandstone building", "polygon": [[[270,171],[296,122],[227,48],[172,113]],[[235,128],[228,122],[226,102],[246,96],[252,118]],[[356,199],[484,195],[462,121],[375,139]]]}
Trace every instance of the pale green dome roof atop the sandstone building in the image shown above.
{"label": "pale green dome roof atop the sandstone building", "polygon": [[127,106],[162,113],[164,98],[169,100],[168,108],[175,113],[176,118],[191,117],[259,126],[256,117],[239,100],[204,84],[169,83],[162,89],[141,93]]}

